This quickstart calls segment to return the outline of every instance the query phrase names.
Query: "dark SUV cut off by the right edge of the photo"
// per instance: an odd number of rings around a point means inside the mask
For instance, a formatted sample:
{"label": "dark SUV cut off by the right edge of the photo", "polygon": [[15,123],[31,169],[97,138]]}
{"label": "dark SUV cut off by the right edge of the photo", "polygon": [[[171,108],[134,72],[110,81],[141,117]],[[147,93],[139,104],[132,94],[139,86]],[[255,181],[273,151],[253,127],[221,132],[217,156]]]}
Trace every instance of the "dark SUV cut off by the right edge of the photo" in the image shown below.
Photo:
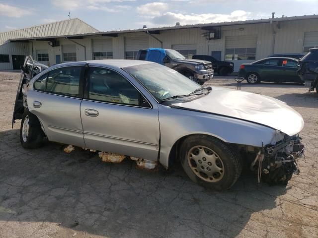
{"label": "dark SUV cut off by the right edge of the photo", "polygon": [[318,93],[318,48],[309,50],[309,53],[299,60],[298,75],[305,82],[310,82],[309,91]]}

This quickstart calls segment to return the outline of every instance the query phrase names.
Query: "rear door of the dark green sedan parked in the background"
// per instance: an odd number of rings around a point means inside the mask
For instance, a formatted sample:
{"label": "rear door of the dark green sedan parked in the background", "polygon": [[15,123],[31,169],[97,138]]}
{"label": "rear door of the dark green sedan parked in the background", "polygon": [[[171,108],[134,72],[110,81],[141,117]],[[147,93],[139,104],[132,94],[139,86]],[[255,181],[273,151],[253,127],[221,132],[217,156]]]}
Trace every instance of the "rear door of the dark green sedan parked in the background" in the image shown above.
{"label": "rear door of the dark green sedan parked in the background", "polygon": [[297,74],[298,61],[293,59],[282,59],[281,60],[281,82],[300,82],[300,78]]}

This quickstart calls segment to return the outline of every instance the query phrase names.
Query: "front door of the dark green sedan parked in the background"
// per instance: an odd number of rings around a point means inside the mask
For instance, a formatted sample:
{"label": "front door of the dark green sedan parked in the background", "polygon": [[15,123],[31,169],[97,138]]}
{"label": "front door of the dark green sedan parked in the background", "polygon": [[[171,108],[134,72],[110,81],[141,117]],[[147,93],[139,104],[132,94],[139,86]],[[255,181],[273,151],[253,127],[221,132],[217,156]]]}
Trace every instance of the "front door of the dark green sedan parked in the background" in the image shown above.
{"label": "front door of the dark green sedan parked in the background", "polygon": [[257,65],[262,81],[277,82],[281,71],[280,60],[270,58]]}

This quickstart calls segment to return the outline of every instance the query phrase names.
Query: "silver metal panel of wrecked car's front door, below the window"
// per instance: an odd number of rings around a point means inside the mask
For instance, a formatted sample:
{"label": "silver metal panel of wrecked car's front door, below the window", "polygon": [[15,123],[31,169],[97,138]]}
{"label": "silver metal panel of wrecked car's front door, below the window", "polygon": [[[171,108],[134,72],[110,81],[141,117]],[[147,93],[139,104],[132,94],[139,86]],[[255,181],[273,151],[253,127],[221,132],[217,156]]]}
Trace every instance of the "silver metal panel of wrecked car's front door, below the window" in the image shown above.
{"label": "silver metal panel of wrecked car's front door, below the window", "polygon": [[[86,109],[98,116],[87,116]],[[80,114],[86,147],[147,160],[158,160],[158,109],[83,100]]]}

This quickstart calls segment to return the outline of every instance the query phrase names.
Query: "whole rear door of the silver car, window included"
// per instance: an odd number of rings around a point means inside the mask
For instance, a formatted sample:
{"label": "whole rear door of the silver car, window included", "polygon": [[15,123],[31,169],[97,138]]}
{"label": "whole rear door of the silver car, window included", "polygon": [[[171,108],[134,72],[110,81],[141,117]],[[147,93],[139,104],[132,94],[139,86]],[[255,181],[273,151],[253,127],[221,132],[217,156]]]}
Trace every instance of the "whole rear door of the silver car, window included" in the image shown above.
{"label": "whole rear door of the silver car, window included", "polygon": [[28,109],[36,115],[49,141],[84,147],[80,119],[84,66],[52,69],[37,78],[27,94]]}

